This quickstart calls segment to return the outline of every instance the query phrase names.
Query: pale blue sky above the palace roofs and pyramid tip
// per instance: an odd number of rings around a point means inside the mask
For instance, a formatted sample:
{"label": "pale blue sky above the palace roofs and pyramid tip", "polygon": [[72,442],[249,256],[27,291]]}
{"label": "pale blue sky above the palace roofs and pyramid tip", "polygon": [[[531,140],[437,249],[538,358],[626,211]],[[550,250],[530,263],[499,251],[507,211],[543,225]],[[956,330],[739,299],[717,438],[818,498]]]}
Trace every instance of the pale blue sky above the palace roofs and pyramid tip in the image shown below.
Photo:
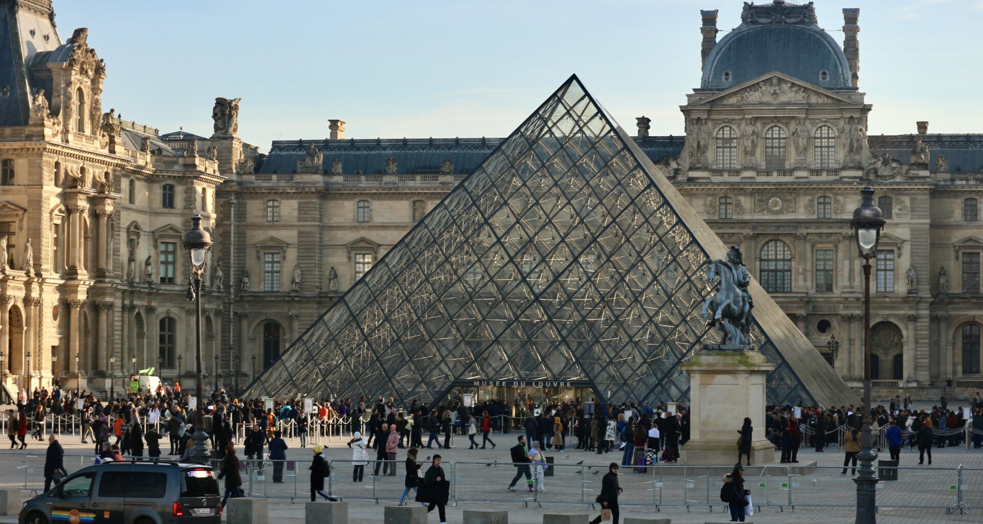
{"label": "pale blue sky above the palace roofs and pyramid tip", "polygon": [[[759,2],[760,3],[760,2]],[[571,73],[629,131],[679,135],[700,83],[700,9],[739,0],[55,0],[59,35],[87,27],[106,61],[103,107],[162,133],[211,134],[215,96],[242,97],[239,133],[269,147],[346,138],[503,137]],[[817,2],[842,42],[860,8],[871,134],[981,133],[978,0]],[[723,31],[718,38],[723,37]]]}

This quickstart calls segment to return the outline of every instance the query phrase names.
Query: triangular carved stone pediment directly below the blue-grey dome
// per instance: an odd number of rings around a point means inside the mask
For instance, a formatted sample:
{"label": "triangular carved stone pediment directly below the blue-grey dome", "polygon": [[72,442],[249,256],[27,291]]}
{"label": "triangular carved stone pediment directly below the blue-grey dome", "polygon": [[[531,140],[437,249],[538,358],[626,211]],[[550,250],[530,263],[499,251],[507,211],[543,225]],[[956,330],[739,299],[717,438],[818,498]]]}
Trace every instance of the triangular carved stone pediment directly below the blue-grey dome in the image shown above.
{"label": "triangular carved stone pediment directly below the blue-grey dome", "polygon": [[698,100],[694,105],[751,103],[848,103],[855,105],[857,102],[833,91],[810,86],[776,72]]}

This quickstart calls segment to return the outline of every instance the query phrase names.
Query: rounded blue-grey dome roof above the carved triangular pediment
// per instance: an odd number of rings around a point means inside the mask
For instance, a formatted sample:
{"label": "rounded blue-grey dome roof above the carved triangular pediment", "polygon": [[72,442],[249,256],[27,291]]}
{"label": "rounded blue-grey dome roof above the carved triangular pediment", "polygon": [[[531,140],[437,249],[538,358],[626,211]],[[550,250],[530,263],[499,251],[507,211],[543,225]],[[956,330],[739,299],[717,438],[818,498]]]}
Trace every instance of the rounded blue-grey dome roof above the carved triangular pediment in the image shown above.
{"label": "rounded blue-grey dome roof above the carved triangular pediment", "polygon": [[745,20],[714,46],[700,87],[738,86],[773,71],[814,86],[851,87],[846,56],[828,32],[815,23],[755,20]]}

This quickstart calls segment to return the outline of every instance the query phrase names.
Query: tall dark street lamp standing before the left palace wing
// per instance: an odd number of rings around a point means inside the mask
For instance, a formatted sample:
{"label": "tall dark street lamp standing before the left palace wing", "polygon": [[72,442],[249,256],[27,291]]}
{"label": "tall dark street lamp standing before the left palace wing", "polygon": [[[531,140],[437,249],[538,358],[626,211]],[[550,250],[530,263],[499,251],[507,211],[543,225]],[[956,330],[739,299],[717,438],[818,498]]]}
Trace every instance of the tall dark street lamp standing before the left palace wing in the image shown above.
{"label": "tall dark street lamp standing before the left palace wing", "polygon": [[195,447],[191,458],[202,464],[208,460],[208,447],[205,445],[208,436],[204,433],[204,399],[202,392],[202,272],[207,260],[208,250],[211,249],[211,235],[202,229],[202,215],[195,213],[192,217],[191,231],[185,234],[185,249],[191,253],[191,272],[194,275],[193,284],[189,282],[188,298],[195,302],[195,360],[198,365],[198,402],[195,409]]}

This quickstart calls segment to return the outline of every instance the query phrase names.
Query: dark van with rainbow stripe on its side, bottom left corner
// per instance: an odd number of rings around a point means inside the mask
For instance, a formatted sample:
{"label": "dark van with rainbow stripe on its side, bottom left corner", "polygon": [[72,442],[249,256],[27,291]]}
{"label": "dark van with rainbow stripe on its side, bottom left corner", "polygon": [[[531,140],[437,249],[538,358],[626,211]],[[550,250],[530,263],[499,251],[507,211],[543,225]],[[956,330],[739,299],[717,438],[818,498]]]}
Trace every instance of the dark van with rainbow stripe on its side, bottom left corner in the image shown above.
{"label": "dark van with rainbow stripe on its side, bottom left corner", "polygon": [[88,466],[25,502],[22,524],[219,524],[218,482],[208,466],[171,461]]}

